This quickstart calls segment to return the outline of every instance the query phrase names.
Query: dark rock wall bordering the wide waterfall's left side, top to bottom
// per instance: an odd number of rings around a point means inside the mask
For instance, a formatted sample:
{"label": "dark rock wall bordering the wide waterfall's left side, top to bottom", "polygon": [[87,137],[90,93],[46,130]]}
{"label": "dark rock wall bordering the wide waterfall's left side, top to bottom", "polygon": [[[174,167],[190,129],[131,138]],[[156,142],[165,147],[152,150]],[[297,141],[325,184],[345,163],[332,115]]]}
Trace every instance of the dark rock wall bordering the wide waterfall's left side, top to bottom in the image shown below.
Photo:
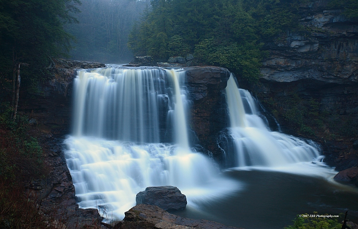
{"label": "dark rock wall bordering the wide waterfall's left side, top to bottom", "polygon": [[19,109],[32,124],[31,136],[37,137],[44,150],[48,175],[29,181],[28,193],[36,197],[40,210],[57,219],[62,228],[84,228],[99,225],[102,217],[96,209],[79,209],[75,187],[62,152],[63,136],[69,133],[72,82],[76,70],[105,67],[104,64],[55,60],[51,78],[38,85],[38,92],[20,95]]}

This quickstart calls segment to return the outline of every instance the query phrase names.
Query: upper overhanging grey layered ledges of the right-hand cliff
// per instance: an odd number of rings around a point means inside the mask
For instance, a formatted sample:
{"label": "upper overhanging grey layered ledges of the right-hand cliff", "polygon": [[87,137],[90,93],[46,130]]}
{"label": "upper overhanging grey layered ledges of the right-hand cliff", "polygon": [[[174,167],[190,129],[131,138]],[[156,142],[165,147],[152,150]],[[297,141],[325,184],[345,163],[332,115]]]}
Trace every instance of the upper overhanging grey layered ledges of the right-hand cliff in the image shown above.
{"label": "upper overhanging grey layered ledges of the right-hand cliff", "polygon": [[261,68],[263,80],[358,82],[358,21],[346,18],[343,10],[327,9],[327,3],[301,5],[301,24],[310,35],[288,33],[267,44],[270,55]]}

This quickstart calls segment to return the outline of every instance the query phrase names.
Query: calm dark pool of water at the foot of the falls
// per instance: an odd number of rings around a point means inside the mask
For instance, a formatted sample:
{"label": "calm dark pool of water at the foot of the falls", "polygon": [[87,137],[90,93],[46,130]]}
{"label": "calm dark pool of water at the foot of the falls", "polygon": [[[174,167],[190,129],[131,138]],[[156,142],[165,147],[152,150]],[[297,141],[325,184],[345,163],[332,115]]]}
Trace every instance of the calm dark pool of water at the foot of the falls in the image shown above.
{"label": "calm dark pool of water at the foot of the falls", "polygon": [[[280,229],[291,225],[298,214],[340,215],[358,223],[358,188],[324,178],[272,171],[227,171],[225,175],[243,184],[232,195],[197,202],[181,217],[206,219],[245,229]],[[342,221],[342,215],[339,221]]]}

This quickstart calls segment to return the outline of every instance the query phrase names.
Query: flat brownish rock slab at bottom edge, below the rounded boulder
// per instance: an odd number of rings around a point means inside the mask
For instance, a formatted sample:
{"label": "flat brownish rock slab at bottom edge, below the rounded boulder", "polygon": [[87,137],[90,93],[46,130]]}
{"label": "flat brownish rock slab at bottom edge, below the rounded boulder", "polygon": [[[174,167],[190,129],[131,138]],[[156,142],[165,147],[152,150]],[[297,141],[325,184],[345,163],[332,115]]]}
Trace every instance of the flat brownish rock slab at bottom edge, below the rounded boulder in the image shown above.
{"label": "flat brownish rock slab at bottom edge, below the rounded boulder", "polygon": [[137,205],[125,213],[116,229],[237,229],[207,221],[181,218],[153,205]]}

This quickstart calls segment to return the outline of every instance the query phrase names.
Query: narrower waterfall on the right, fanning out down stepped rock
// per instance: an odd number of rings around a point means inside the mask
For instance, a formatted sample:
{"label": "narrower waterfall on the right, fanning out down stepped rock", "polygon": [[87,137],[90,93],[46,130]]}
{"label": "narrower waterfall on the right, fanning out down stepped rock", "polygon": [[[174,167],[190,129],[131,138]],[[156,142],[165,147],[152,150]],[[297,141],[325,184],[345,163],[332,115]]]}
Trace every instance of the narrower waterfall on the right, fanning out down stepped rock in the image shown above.
{"label": "narrower waterfall on the right, fanning out down stepped rock", "polygon": [[233,75],[225,92],[235,151],[234,166],[279,167],[321,158],[313,142],[270,131],[258,115],[254,98],[238,88]]}

